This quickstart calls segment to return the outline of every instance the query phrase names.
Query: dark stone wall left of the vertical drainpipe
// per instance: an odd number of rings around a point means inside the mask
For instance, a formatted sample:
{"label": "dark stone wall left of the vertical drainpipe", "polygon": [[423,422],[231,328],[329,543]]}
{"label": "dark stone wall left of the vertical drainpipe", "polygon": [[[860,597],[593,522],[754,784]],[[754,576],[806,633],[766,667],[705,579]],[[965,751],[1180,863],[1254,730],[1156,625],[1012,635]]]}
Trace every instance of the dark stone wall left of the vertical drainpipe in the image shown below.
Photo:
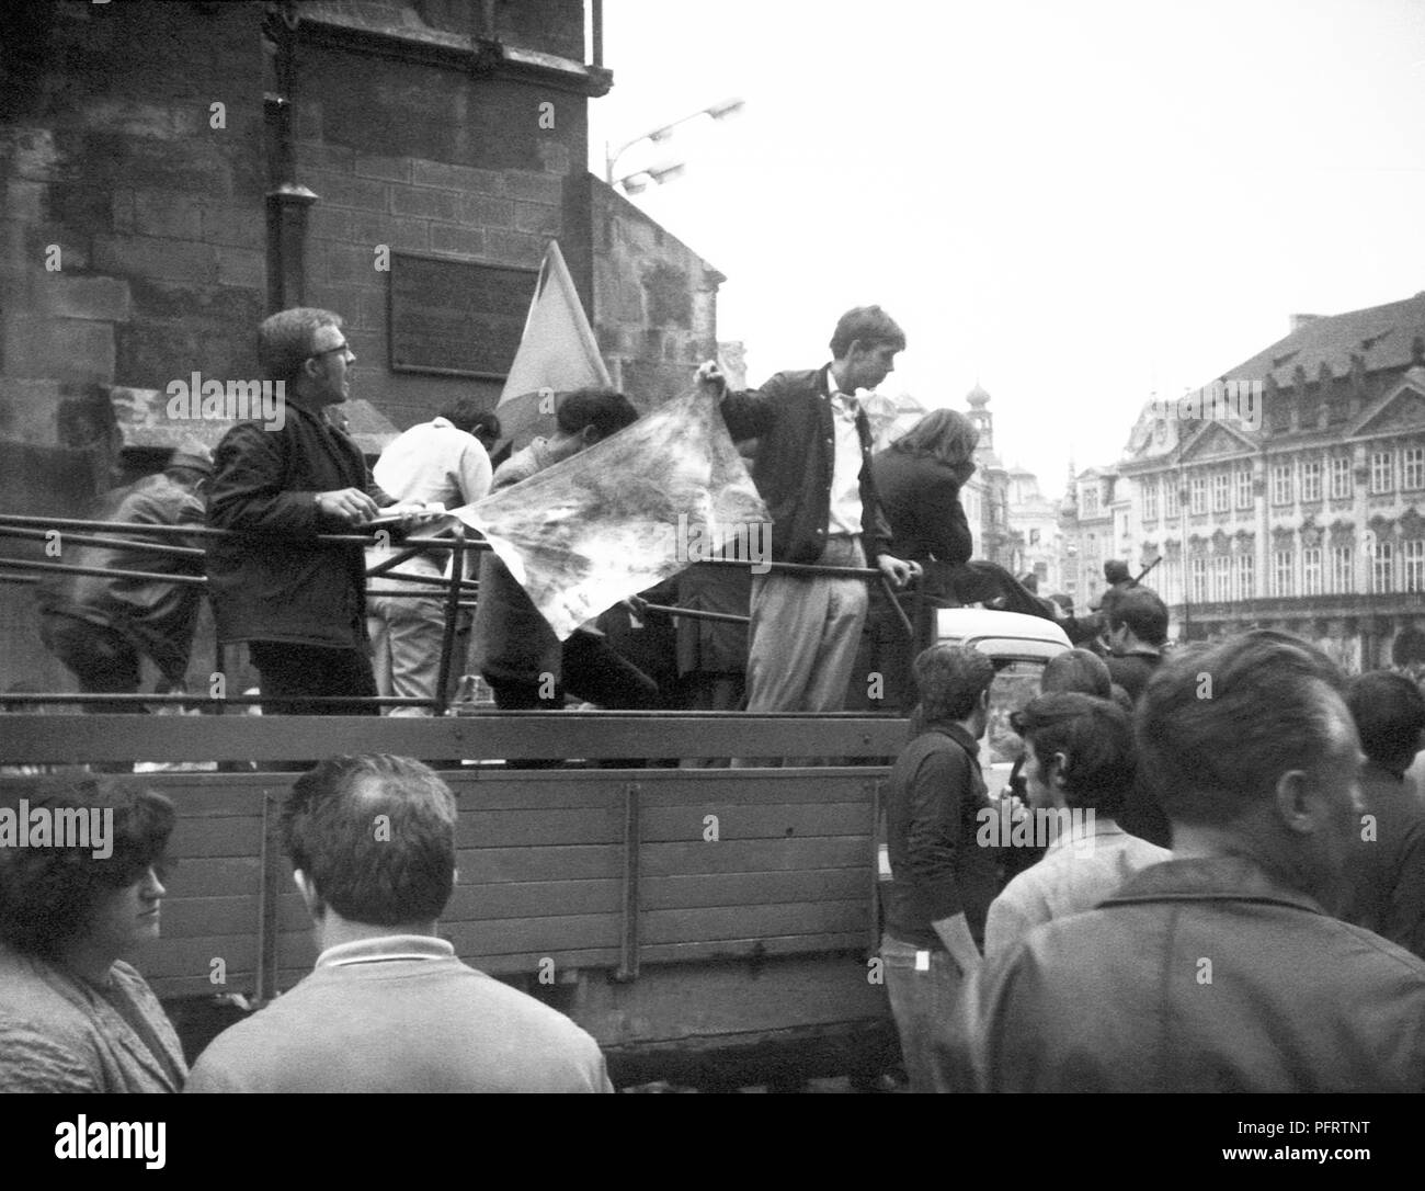
{"label": "dark stone wall left of the vertical drainpipe", "polygon": [[[254,374],[262,11],[16,7],[26,24],[0,48],[0,509],[73,516],[115,462],[98,385]],[[214,101],[225,128],[209,124]],[[44,267],[51,244],[58,271]],[[28,591],[0,583],[11,682],[73,687],[36,639]]]}

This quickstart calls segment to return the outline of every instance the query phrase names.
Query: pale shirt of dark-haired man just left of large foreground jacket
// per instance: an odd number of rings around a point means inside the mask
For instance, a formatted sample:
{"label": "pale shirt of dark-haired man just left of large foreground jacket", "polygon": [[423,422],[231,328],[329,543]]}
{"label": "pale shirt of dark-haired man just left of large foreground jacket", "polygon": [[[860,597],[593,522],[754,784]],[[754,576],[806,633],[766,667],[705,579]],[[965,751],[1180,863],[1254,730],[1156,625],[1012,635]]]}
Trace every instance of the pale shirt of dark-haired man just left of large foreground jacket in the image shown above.
{"label": "pale shirt of dark-haired man just left of large foreground jacket", "polygon": [[1094,816],[1093,834],[1056,839],[1043,859],[1015,877],[989,907],[985,957],[1010,950],[1040,923],[1092,910],[1139,869],[1173,853],[1130,836],[1113,819]]}

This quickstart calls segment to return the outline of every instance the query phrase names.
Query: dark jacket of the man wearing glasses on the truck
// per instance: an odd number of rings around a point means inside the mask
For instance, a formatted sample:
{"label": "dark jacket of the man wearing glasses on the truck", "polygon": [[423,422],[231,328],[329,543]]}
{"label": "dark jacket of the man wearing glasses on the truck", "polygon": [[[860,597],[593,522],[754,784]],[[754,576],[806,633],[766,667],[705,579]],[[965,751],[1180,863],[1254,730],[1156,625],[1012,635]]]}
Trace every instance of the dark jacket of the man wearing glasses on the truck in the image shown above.
{"label": "dark jacket of the man wearing glasses on the truck", "polygon": [[361,488],[393,504],[361,449],[316,411],[286,402],[281,429],[242,422],[214,455],[208,523],[245,539],[214,539],[208,583],[219,640],[366,648],[366,566],[359,545],[322,543],[351,526],[316,508],[318,492]]}

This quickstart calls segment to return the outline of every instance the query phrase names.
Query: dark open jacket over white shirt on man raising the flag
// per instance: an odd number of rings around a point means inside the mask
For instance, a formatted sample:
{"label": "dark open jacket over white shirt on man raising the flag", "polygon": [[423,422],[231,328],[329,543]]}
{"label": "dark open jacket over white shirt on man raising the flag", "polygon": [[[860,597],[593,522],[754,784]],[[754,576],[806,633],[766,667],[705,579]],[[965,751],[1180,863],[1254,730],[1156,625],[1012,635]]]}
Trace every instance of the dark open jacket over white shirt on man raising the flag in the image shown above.
{"label": "dark open jacket over white shirt on man raising the flag", "polygon": [[[826,368],[778,372],[761,389],[722,398],[722,421],[734,439],[760,438],[752,481],[772,516],[772,562],[815,562],[826,545],[836,429]],[[871,475],[871,424],[861,435],[861,541],[866,562],[891,553],[891,529]]]}

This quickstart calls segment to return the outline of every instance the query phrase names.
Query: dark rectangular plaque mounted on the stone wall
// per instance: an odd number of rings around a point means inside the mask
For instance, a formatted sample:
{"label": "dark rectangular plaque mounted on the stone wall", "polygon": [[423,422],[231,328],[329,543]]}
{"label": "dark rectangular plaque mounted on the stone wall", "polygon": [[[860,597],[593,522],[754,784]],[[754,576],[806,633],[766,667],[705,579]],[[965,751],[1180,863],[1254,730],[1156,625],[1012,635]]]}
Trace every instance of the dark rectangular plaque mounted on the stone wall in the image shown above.
{"label": "dark rectangular plaque mounted on the stone wall", "polygon": [[390,369],[504,378],[524,332],[536,270],[390,255]]}

